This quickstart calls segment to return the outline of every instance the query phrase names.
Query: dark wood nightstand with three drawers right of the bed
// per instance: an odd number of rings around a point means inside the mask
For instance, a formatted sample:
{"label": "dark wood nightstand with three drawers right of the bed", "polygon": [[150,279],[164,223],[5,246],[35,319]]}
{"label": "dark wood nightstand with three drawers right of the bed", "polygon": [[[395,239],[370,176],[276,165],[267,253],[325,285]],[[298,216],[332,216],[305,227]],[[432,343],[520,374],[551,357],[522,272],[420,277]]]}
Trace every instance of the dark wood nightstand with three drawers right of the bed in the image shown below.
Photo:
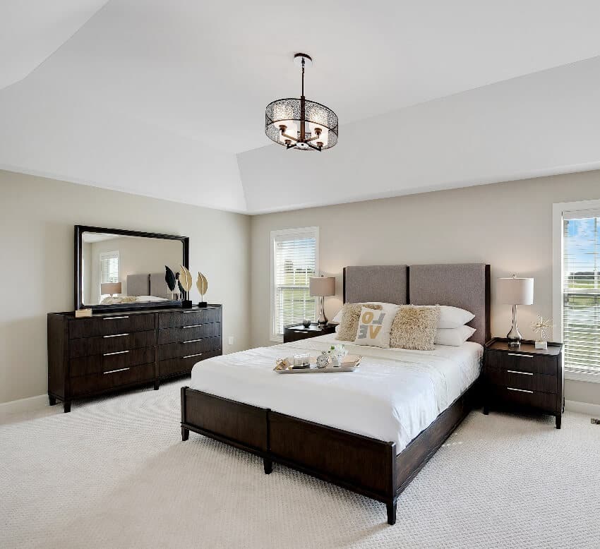
{"label": "dark wood nightstand with three drawers right of the bed", "polygon": [[536,349],[534,342],[510,347],[494,338],[484,351],[484,414],[490,406],[534,409],[560,418],[565,408],[563,344],[548,342]]}

